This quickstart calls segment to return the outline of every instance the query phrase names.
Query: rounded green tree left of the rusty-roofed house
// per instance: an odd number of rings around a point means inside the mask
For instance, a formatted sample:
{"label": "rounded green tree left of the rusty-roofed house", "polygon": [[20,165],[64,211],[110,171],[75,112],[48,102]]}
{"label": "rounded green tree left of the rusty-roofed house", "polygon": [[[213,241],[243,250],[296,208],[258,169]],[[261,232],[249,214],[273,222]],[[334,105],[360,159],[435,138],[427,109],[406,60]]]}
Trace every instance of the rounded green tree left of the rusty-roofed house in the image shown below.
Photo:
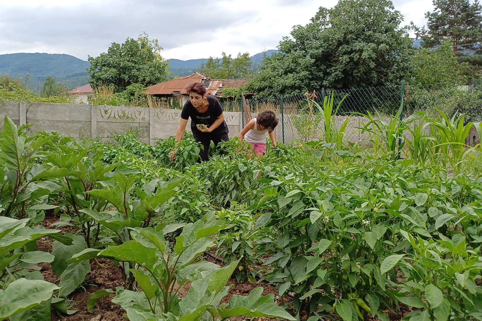
{"label": "rounded green tree left of the rusty-roofed house", "polygon": [[107,52],[89,56],[89,82],[93,87],[112,86],[121,91],[132,84],[150,86],[167,80],[169,62],[161,56],[157,39],[149,40],[146,33],[124,43],[113,42]]}

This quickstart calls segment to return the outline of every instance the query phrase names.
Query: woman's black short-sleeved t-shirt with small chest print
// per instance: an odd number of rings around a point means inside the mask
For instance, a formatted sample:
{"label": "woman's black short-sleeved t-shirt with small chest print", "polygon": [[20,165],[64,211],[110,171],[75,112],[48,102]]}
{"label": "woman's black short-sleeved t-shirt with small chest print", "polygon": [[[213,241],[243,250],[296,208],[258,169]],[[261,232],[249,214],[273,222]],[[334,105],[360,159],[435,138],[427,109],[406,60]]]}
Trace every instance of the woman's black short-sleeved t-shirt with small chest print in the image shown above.
{"label": "woman's black short-sleeved t-shirt with small chest print", "polygon": [[[184,104],[184,107],[182,107],[181,118],[187,120],[189,119],[189,117],[191,117],[191,130],[193,134],[206,134],[201,132],[196,127],[196,125],[204,124],[210,127],[211,125],[213,125],[216,118],[223,113],[223,107],[216,99],[216,97],[211,95],[206,95],[206,98],[208,99],[209,105],[208,105],[208,109],[204,113],[198,113],[198,111],[196,110],[196,108],[194,108],[190,100],[188,100]],[[228,133],[228,125],[226,125],[225,121],[223,121],[221,125],[219,125],[211,132],[211,134],[215,134],[215,135],[225,134],[225,133]]]}

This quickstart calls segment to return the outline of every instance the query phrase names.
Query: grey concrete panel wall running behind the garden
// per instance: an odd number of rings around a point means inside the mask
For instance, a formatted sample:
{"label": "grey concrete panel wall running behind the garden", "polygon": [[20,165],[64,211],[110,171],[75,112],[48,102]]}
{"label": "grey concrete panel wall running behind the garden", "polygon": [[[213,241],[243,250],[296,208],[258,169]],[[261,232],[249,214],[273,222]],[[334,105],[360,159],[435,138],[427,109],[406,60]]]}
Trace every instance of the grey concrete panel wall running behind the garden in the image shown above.
{"label": "grey concrete panel wall running behind the garden", "polygon": [[[31,124],[29,132],[44,130],[60,132],[76,138],[101,138],[108,140],[112,135],[125,134],[131,128],[140,133],[141,140],[154,144],[157,139],[174,136],[181,110],[161,108],[141,108],[122,106],[97,106],[74,103],[29,103],[0,101],[1,120],[8,115],[17,125]],[[253,114],[252,117],[256,115]],[[276,141],[283,140],[283,128],[280,123],[275,129]],[[284,141],[299,138],[292,118],[296,115],[284,115]],[[335,123],[339,128],[348,116],[336,116]],[[224,118],[229,128],[229,137],[236,137],[242,128],[241,113],[224,112]],[[359,128],[367,123],[362,116],[349,116],[345,141],[370,144],[367,132]],[[3,124],[3,121],[0,122]],[[320,124],[322,126],[322,124]],[[186,130],[190,130],[190,120]],[[408,132],[406,134],[409,134]],[[318,135],[317,135],[318,136]],[[312,137],[318,138],[318,137]],[[475,128],[471,128],[467,144],[474,146],[479,143]]]}

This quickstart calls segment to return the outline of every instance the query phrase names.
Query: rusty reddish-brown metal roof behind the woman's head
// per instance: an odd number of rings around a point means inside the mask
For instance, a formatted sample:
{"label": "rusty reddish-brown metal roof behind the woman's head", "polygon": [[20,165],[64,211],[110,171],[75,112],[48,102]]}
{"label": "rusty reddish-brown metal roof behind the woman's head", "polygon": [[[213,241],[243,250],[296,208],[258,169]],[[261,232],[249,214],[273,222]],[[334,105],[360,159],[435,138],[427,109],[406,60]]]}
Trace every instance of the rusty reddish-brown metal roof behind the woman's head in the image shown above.
{"label": "rusty reddish-brown metal roof behind the woman's head", "polygon": [[215,95],[221,86],[221,81],[212,80],[201,73],[194,73],[189,76],[176,78],[173,80],[161,82],[157,85],[150,86],[146,93],[149,95],[171,95],[173,92],[179,92],[181,95],[187,95],[186,86],[192,83],[202,82],[206,88],[206,93]]}

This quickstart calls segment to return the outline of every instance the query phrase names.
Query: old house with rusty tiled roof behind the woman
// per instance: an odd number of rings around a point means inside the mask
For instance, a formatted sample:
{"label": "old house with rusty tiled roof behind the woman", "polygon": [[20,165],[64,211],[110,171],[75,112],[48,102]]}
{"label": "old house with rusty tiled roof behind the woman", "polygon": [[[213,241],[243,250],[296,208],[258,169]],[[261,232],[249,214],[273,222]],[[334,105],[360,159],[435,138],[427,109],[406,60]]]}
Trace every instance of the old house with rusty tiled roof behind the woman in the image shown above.
{"label": "old house with rusty tiled roof behind the woman", "polygon": [[[186,86],[191,83],[201,82],[206,88],[206,93],[217,98],[222,98],[222,91],[225,88],[239,89],[245,86],[249,79],[211,79],[201,73],[194,73],[189,76],[175,78],[157,85],[150,86],[146,93],[160,99],[160,106],[164,108],[181,108],[187,102],[189,96]],[[177,106],[177,104],[179,104]],[[164,105],[164,106],[162,106]]]}

